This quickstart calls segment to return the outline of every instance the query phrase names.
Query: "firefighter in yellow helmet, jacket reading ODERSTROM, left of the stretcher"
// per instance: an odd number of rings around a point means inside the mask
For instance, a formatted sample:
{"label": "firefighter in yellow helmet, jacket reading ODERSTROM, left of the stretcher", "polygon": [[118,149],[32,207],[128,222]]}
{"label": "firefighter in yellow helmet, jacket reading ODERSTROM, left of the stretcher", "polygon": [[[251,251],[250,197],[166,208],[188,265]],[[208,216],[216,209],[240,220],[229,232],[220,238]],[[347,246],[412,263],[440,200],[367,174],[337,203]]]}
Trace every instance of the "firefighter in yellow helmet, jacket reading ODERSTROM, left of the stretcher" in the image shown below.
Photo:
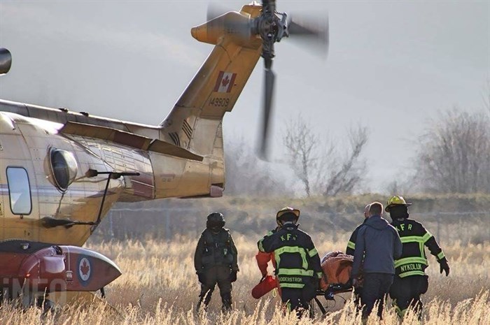
{"label": "firefighter in yellow helmet, jacket reading ODERSTROM, left of the stretcher", "polygon": [[258,250],[274,253],[275,275],[279,279],[281,301],[298,317],[311,313],[310,301],[316,296],[322,277],[320,257],[311,237],[298,229],[300,210],[282,208],[276,214],[278,227],[258,241]]}

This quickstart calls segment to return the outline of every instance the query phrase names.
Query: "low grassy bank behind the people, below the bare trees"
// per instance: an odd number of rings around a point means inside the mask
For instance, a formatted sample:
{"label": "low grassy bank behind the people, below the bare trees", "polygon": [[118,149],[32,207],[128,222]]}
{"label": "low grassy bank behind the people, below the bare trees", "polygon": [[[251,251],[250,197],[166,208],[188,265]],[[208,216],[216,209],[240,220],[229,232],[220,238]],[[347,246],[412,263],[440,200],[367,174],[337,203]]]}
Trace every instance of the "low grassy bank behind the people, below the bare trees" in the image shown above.
{"label": "low grassy bank behind the people, below the bare trees", "polygon": [[[94,233],[92,240],[127,238],[197,238],[210,212],[223,212],[234,233],[253,238],[272,229],[276,211],[285,205],[301,210],[302,229],[333,240],[346,236],[363,220],[364,205],[386,203],[388,196],[315,196],[308,199],[225,196],[204,199],[167,199],[141,203],[118,203]],[[408,196],[411,217],[425,224],[441,240],[484,243],[490,240],[490,194],[444,194]],[[389,218],[387,216],[387,218]]]}

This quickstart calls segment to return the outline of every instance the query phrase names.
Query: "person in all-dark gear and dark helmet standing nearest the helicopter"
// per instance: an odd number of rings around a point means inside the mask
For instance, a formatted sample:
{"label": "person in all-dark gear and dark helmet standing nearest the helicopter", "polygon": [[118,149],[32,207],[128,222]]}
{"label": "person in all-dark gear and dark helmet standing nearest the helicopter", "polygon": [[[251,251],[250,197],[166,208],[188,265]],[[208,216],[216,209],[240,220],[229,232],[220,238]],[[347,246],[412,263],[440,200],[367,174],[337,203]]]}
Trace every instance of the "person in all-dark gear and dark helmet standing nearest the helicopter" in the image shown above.
{"label": "person in all-dark gear and dark helmet standing nearest the helicopter", "polygon": [[238,252],[233,238],[225,226],[225,218],[220,212],[207,216],[206,229],[202,231],[194,254],[194,266],[201,293],[197,310],[204,303],[207,308],[214,287],[218,284],[223,312],[232,309],[232,282],[237,280]]}

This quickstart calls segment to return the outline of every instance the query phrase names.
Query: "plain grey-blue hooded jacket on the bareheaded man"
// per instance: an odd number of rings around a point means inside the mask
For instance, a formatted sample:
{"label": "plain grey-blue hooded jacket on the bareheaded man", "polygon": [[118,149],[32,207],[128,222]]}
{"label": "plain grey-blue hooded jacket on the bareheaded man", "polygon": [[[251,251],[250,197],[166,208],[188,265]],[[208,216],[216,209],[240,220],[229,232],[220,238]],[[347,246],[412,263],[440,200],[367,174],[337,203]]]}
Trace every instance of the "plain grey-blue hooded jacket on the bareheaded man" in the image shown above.
{"label": "plain grey-blue hooded jacket on the bareheaded man", "polygon": [[395,259],[402,255],[398,231],[379,215],[373,215],[360,227],[351,277],[360,273],[395,274]]}

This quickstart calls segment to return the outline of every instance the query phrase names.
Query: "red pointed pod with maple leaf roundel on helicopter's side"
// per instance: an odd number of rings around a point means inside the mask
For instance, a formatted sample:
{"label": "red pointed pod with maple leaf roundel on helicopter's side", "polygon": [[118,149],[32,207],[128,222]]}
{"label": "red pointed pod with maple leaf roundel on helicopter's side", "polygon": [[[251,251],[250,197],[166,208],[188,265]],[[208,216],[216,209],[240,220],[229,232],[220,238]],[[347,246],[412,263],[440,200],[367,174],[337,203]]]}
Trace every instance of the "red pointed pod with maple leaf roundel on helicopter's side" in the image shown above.
{"label": "red pointed pod with maple leaf roundel on helicopter's side", "polygon": [[0,243],[0,281],[9,290],[97,291],[120,275],[113,261],[86,248],[26,240]]}

